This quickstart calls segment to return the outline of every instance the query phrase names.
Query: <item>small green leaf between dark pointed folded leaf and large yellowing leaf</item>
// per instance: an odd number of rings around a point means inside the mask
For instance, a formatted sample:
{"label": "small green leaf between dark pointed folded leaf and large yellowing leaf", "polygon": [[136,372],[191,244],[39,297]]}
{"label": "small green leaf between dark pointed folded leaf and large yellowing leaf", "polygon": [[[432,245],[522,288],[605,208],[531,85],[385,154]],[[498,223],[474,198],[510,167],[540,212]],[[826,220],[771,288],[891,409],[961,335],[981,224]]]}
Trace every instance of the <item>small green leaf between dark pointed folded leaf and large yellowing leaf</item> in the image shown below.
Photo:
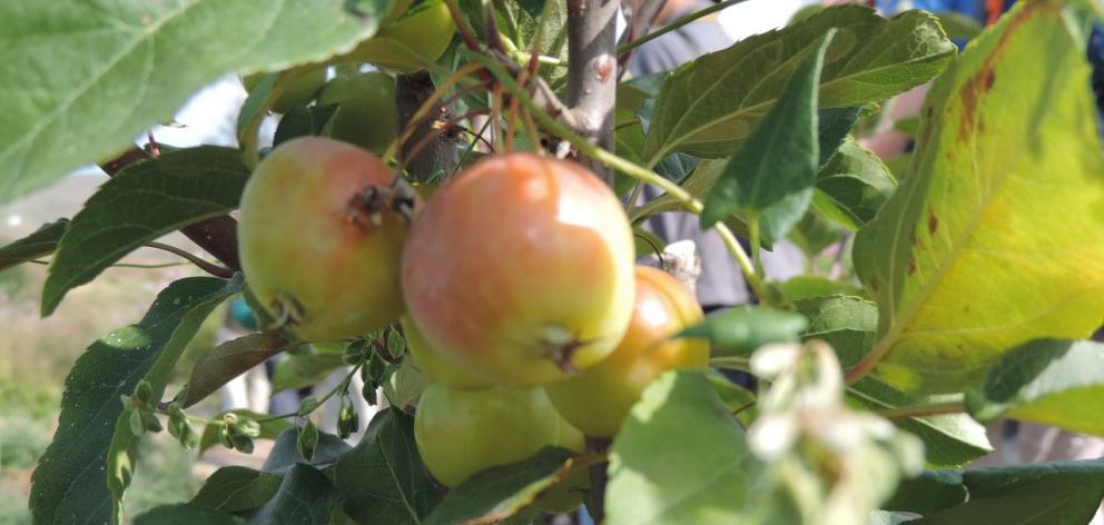
{"label": "small green leaf between dark pointed folded leaf and large yellowing leaf", "polygon": [[896,189],[897,181],[881,159],[848,139],[817,174],[812,206],[848,229],[857,230],[874,220]]}

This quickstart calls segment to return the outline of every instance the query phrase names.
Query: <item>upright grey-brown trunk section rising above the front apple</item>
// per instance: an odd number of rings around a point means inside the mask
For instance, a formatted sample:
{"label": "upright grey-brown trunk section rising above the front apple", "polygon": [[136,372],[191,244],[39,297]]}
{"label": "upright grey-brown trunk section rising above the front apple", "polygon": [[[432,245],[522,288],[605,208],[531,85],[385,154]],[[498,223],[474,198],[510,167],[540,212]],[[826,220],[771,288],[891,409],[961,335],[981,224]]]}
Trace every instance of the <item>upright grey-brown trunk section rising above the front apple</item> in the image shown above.
{"label": "upright grey-brown trunk section rising above the front apple", "polygon": [[[568,0],[568,96],[578,131],[605,150],[613,149],[617,101],[617,0]],[[581,159],[605,184],[613,174],[593,159]]]}

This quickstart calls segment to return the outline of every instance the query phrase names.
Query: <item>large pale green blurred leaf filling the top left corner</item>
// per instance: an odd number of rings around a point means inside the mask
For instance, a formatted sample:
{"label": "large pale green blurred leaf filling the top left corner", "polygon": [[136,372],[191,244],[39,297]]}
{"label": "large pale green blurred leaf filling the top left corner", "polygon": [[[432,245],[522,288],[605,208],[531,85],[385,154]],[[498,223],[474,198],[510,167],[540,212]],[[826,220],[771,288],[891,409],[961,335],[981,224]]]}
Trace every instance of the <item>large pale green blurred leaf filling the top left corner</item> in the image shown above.
{"label": "large pale green blurred leaf filling the top left corner", "polygon": [[348,51],[345,0],[0,3],[0,201],[115,155],[199,88]]}

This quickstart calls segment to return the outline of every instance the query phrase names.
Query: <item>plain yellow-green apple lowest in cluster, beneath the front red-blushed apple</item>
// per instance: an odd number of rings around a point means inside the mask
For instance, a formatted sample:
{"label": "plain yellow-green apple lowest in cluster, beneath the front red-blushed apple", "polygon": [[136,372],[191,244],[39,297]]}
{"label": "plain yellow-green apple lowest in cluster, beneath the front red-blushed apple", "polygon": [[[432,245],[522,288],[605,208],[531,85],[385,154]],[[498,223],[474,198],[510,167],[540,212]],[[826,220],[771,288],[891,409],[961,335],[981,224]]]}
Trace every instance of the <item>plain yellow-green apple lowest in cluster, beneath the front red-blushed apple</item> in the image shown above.
{"label": "plain yellow-green apple lowest in cluster, beneath the front red-blushed apple", "polygon": [[422,462],[450,487],[555,445],[559,435],[555,409],[539,388],[455,390],[430,385],[414,415]]}

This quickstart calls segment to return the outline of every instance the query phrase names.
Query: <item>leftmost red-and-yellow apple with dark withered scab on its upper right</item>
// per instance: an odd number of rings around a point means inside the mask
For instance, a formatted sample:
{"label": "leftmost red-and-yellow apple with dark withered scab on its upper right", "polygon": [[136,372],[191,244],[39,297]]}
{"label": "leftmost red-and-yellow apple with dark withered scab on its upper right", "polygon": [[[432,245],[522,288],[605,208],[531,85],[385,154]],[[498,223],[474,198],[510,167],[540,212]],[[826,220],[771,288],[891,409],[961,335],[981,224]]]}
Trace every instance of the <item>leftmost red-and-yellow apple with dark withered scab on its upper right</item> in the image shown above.
{"label": "leftmost red-and-yellow apple with dark withered scab on its upper right", "polygon": [[361,198],[394,180],[372,153],[318,137],[287,141],[257,165],[241,195],[241,269],[299,337],[344,339],[398,320],[407,219]]}

